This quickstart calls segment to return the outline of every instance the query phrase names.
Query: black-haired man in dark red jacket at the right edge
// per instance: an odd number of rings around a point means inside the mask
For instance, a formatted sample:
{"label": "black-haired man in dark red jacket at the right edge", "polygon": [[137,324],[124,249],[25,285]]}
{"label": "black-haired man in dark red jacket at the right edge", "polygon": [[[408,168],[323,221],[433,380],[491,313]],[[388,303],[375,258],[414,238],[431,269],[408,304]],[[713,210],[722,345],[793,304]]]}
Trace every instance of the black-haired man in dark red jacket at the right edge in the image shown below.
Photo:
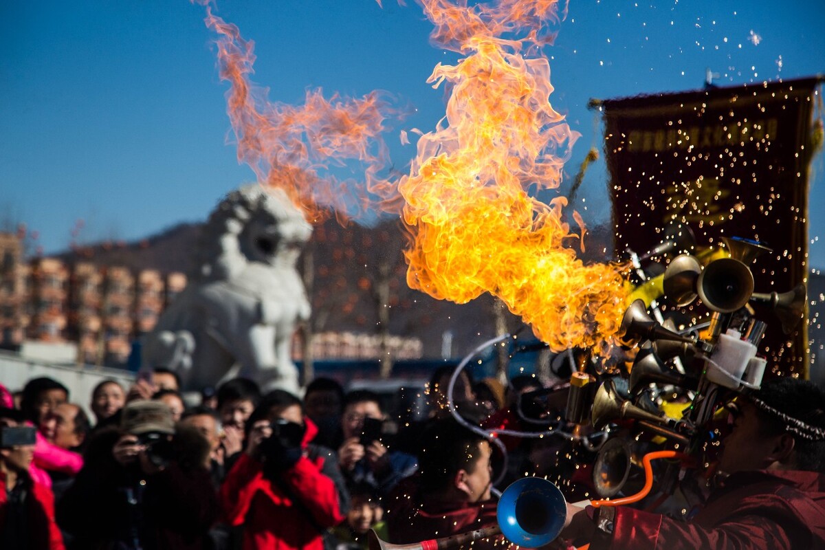
{"label": "black-haired man in dark red jacket at the right edge", "polygon": [[602,548],[825,548],[825,392],[778,378],[737,399],[717,488],[684,523],[619,506],[568,504],[559,543]]}

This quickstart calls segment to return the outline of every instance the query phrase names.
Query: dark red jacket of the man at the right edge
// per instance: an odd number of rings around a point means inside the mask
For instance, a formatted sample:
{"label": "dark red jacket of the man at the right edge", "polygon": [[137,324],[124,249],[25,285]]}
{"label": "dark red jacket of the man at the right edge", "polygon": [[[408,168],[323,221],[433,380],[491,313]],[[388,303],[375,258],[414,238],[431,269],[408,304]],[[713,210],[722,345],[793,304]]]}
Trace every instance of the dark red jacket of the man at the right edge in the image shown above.
{"label": "dark red jacket of the man at the right edge", "polygon": [[733,474],[688,523],[620,506],[612,539],[590,548],[825,548],[825,475]]}

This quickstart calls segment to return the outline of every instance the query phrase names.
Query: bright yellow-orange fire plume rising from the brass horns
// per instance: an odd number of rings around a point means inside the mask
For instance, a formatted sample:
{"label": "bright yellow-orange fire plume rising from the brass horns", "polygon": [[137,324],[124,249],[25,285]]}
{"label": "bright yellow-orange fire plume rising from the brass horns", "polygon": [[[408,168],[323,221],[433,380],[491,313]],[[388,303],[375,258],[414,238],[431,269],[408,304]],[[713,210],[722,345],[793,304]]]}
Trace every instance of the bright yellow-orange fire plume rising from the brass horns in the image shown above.
{"label": "bright yellow-orange fire plume rising from the brass horns", "polygon": [[[431,74],[434,87],[450,87],[446,119],[418,140],[398,184],[412,234],[408,284],[456,303],[489,292],[554,350],[610,341],[625,309],[619,270],[585,266],[564,246],[576,238],[566,199],[543,204],[527,192],[559,186],[577,138],[549,103],[547,59],[522,54],[549,40],[557,2],[422,4],[432,39],[466,57]],[[522,28],[525,39],[502,38]]]}

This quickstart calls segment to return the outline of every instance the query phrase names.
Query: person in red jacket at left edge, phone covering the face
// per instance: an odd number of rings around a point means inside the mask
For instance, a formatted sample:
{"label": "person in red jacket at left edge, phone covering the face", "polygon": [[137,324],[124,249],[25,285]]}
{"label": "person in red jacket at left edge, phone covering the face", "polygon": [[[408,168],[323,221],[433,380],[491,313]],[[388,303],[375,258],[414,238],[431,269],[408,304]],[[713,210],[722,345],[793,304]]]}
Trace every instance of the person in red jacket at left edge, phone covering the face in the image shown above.
{"label": "person in red jacket at left edge, phone covering the face", "polygon": [[64,550],[54,496],[29,476],[35,428],[23,420],[20,411],[0,408],[0,548]]}

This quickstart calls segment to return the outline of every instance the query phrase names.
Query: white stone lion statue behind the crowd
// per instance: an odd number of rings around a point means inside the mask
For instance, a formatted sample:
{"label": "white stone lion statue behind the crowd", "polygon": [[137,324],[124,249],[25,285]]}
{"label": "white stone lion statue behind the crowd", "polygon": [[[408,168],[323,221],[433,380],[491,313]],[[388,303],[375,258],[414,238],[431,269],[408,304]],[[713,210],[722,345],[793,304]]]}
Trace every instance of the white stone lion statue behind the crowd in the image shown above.
{"label": "white stone lion statue behind the crowd", "polygon": [[229,193],[205,224],[199,269],[144,341],[144,368],[176,371],[184,390],[239,375],[297,392],[290,346],[310,308],[295,261],[311,233],[281,190]]}

